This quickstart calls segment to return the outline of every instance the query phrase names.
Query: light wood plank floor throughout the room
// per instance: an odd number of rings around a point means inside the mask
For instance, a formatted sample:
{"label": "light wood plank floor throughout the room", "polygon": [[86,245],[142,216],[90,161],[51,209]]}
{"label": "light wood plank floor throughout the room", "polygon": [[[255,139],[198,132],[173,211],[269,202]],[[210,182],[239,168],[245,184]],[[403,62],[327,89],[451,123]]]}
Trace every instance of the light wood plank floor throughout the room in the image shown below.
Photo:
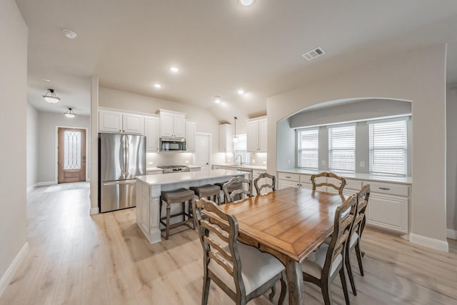
{"label": "light wood plank floor throughout the room", "polygon": [[[136,226],[135,209],[89,216],[87,186],[29,193],[29,254],[0,305],[200,304],[203,251],[196,231],[151,245]],[[351,304],[457,304],[457,242],[448,241],[446,254],[367,229],[366,273],[361,277],[353,264],[358,296],[349,294]],[[316,286],[305,284],[305,291],[306,304],[323,304]],[[343,304],[339,279],[331,294]],[[209,304],[233,302],[211,284]],[[261,296],[251,304],[271,303]]]}

